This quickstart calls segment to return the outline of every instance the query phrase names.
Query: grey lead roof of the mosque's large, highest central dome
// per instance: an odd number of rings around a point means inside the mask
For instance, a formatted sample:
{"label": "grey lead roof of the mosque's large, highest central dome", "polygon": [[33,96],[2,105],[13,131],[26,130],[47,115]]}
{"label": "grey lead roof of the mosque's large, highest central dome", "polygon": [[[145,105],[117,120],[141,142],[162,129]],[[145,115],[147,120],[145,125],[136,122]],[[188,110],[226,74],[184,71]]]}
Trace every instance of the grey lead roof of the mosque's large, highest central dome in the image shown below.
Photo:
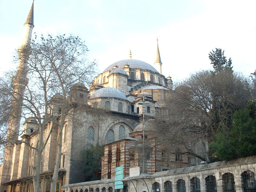
{"label": "grey lead roof of the mosque's large, highest central dome", "polygon": [[108,68],[106,68],[103,72],[112,70],[114,66],[118,66],[118,68],[123,69],[125,65],[129,65],[130,68],[150,70],[152,72],[158,73],[158,71],[150,64],[140,60],[135,60],[135,59],[125,59],[125,60],[115,62],[112,65],[108,66]]}

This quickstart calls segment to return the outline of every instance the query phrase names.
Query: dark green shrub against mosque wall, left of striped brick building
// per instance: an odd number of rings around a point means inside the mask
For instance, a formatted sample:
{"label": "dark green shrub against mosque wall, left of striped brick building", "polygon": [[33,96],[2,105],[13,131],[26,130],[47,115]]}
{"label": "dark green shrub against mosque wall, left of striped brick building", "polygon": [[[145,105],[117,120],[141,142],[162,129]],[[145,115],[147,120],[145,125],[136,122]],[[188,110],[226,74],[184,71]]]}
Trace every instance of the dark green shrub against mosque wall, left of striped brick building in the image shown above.
{"label": "dark green shrub against mosque wall, left of striped brick building", "polygon": [[103,146],[90,146],[82,151],[84,181],[100,180],[101,157],[104,156]]}

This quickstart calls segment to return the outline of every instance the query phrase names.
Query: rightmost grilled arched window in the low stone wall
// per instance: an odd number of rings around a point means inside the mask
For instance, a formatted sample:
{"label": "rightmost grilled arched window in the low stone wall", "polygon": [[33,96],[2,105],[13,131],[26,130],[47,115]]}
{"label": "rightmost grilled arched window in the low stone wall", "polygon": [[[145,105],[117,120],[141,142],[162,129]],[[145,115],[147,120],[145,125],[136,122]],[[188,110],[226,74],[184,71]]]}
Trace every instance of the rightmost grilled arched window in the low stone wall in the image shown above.
{"label": "rightmost grilled arched window in the low stone wall", "polygon": [[252,171],[242,172],[241,179],[242,179],[243,192],[255,192],[256,191],[254,172],[252,172]]}

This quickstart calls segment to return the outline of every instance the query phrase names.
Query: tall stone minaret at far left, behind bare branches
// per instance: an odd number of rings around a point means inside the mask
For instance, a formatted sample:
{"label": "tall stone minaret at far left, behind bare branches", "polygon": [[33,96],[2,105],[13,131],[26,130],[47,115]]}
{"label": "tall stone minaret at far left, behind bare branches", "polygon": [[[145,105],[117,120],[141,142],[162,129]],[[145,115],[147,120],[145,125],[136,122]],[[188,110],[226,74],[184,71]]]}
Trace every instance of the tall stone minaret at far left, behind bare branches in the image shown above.
{"label": "tall stone minaret at far left, behind bare branches", "polygon": [[[14,142],[18,140],[18,133],[20,130],[20,117],[22,114],[22,96],[24,95],[24,90],[26,85],[28,84],[27,78],[27,60],[28,54],[24,51],[24,48],[28,48],[30,46],[32,30],[34,28],[34,1],[30,8],[30,12],[24,23],[24,37],[22,40],[21,46],[18,48],[19,53],[19,62],[18,69],[16,75],[13,77],[12,82],[14,84],[14,94],[12,97],[12,106],[10,112],[10,119],[8,122],[8,130],[7,130],[7,140],[10,142]],[[12,164],[15,160],[15,156],[17,150],[14,150],[15,145],[10,144],[10,142],[6,143],[4,150],[4,161],[2,163],[0,169],[0,183],[6,182],[12,178]],[[1,186],[1,191],[3,191],[3,187]]]}

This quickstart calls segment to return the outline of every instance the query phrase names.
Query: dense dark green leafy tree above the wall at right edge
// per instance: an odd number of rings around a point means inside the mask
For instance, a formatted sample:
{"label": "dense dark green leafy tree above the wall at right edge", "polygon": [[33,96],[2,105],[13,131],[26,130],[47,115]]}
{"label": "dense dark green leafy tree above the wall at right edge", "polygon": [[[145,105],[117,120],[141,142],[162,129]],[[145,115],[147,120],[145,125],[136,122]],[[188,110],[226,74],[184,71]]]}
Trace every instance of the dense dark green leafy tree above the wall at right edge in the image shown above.
{"label": "dense dark green leafy tree above the wall at right edge", "polygon": [[220,160],[256,155],[256,103],[249,102],[244,110],[237,110],[232,118],[229,133],[222,130],[210,143],[210,148]]}

